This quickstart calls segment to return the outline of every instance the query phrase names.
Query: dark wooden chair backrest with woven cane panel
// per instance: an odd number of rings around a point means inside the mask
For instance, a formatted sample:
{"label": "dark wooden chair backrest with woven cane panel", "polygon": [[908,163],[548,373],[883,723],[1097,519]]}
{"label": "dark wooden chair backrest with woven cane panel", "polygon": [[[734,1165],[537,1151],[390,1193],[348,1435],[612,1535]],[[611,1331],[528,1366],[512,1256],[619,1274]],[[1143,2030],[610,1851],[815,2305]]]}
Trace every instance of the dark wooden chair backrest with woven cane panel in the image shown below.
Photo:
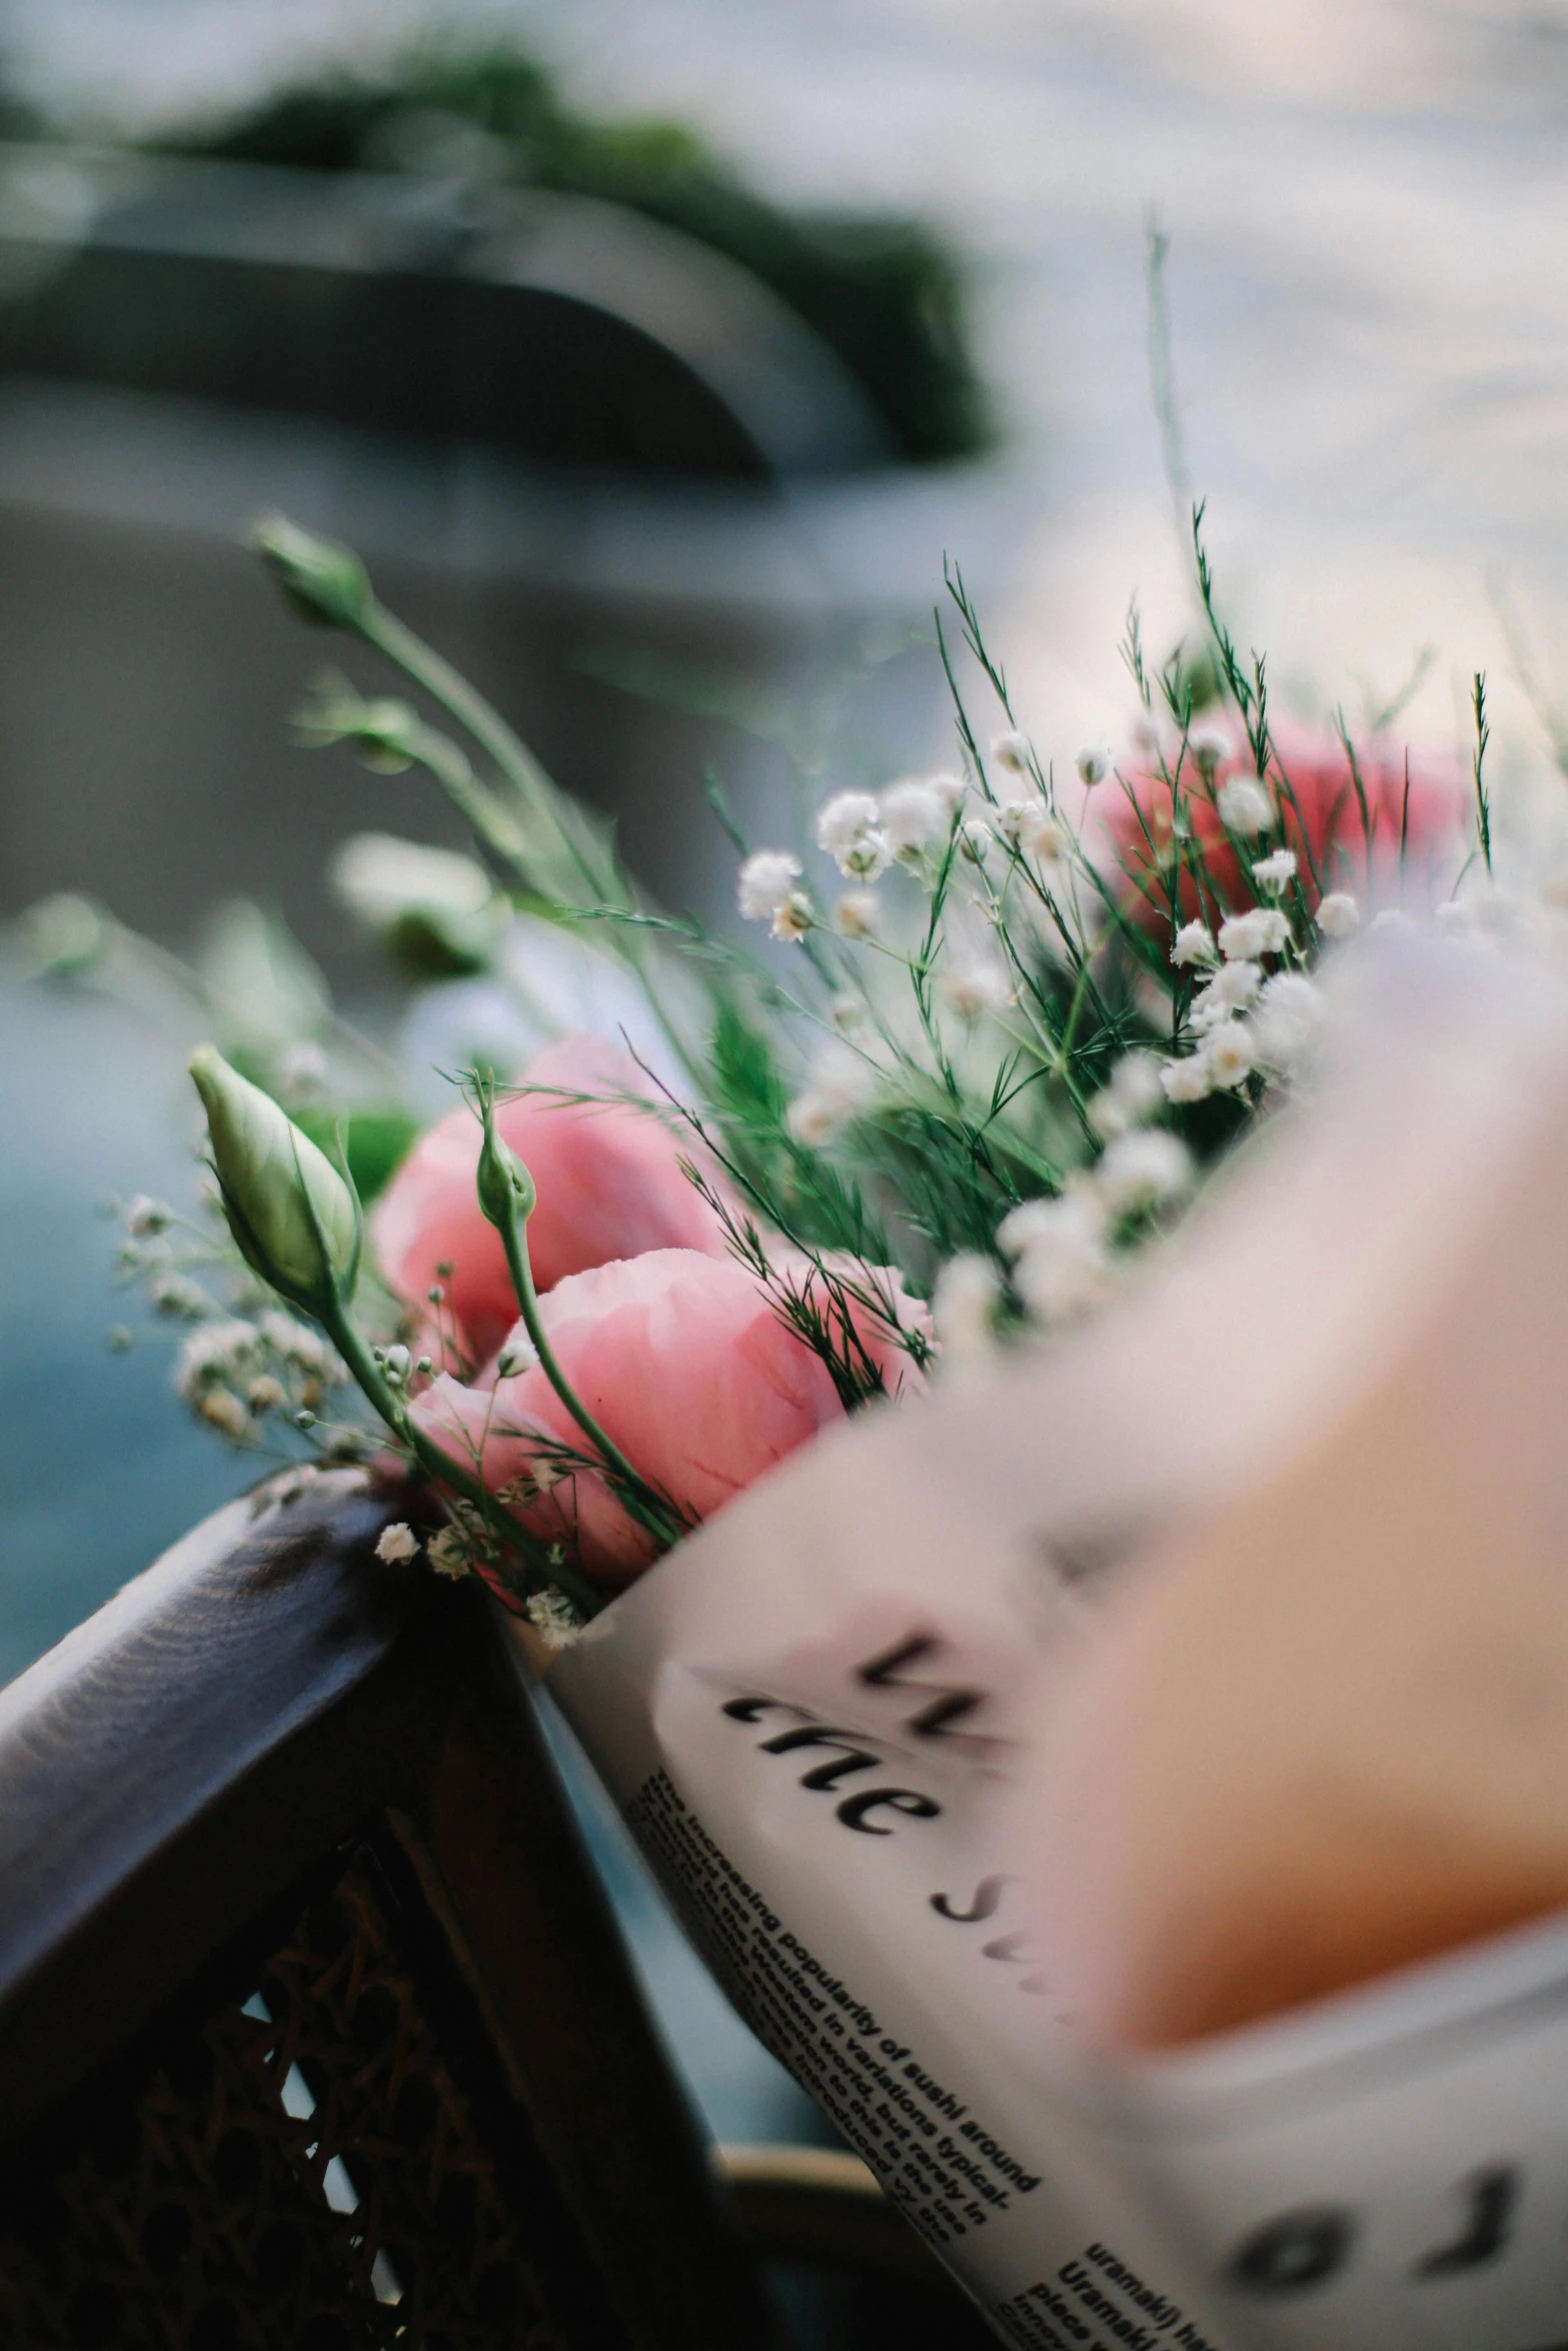
{"label": "dark wooden chair backrest with woven cane panel", "polygon": [[275,1479],[0,1693],[0,2346],[762,2346],[482,1594]]}

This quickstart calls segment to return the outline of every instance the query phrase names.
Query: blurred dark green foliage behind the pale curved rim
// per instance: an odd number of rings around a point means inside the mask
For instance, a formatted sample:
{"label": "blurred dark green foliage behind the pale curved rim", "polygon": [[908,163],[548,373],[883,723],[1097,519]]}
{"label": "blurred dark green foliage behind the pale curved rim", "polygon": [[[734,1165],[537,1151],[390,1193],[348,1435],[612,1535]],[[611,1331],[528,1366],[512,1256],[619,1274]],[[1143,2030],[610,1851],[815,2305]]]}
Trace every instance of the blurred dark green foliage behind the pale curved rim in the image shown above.
{"label": "blurred dark green foliage behind the pale curved rim", "polygon": [[788,303],[870,397],[898,458],[969,456],[987,440],[959,268],[931,230],[769,205],[677,122],[574,113],[517,49],[416,49],[383,80],[296,87],[172,143],[233,162],[402,169],[437,186],[508,181],[621,205]]}

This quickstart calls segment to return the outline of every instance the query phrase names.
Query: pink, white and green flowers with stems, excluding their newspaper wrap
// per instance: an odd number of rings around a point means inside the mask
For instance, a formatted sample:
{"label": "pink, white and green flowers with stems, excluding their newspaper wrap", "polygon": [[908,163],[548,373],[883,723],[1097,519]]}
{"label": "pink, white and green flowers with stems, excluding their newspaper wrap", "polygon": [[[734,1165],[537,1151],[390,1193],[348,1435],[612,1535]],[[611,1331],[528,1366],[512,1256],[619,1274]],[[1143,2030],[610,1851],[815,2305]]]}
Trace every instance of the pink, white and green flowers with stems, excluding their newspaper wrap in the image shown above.
{"label": "pink, white and green flowers with stems, excluding their newspaper wrap", "polygon": [[[1288,1091],[1326,945],[1396,915],[1413,875],[1429,893],[1458,842],[1453,762],[1274,726],[1197,550],[1225,696],[1199,712],[1197,663],[1152,672],[1133,614],[1131,748],[1063,771],[1013,724],[950,574],[952,769],[830,792],[811,842],[731,825],[769,959],[649,905],[348,550],[266,524],[289,602],[447,722],[329,677],[306,741],[423,769],[484,860],[364,837],[343,896],[425,971],[538,992],[567,955],[618,1034],[475,1060],[418,1136],[386,1105],[334,1128],[308,1025],[202,1049],[228,1234],[136,1201],[122,1260],[190,1324],[195,1411],[306,1458],[397,1451],[444,1526],[390,1540],[559,1641],[830,1422],[1110,1295]],[[1479,759],[1476,790],[1486,818]],[[80,903],[75,929],[59,903],[38,919],[54,962],[87,959],[80,929]],[[353,1389],[378,1427],[343,1415]]]}

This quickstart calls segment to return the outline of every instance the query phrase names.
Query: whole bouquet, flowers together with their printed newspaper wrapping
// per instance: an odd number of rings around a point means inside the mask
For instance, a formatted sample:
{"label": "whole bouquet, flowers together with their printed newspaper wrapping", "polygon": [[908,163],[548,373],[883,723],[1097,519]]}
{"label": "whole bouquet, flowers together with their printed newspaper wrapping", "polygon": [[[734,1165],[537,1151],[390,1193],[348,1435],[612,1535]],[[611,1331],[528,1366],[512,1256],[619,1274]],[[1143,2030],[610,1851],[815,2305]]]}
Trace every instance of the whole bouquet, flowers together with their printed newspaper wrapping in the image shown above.
{"label": "whole bouquet, flowers together with their printed newspaper wrapping", "polygon": [[[303,738],[423,769],[475,842],[468,860],[360,837],[341,896],[404,969],[484,976],[512,1025],[508,1051],[451,1070],[430,1124],[254,912],[216,962],[169,973],[101,910],[40,910],[45,962],[122,983],[158,969],[228,1046],[190,1065],[214,1215],[125,1211],[127,1281],[188,1326],[181,1394],[287,1474],[315,1458],[414,1474],[428,1507],[381,1554],[480,1578],[508,1610],[741,2010],[1006,2339],[1394,2346],[1415,2339],[1406,2271],[1493,2295],[1519,2165],[1476,2146],[1465,2172],[1448,2137],[1458,2116],[1519,2135],[1542,2043],[1514,2052],[1507,2097],[1469,2106],[1408,2048],[1446,2031],[1500,2081],[1507,1984],[1554,1984],[1556,1942],[1528,1965],[1488,1958],[1415,2022],[1305,2010],[1284,2041],[1225,2036],[1537,1916],[1568,1876],[1523,1871],[1514,1907],[1495,1888],[1460,1902],[1453,1933],[1392,1930],[1368,1902],[1295,1972],[1225,1975],[1215,1937],[1255,1895],[1267,1949],[1284,1897],[1255,1822],[1215,1841],[1237,1862],[1225,1900],[1175,1883],[1182,1838],[1201,1843],[1180,1744],[1222,1744],[1232,1707],[1213,1672],[1192,1683],[1199,1719],[1168,1704],[1161,1627],[1187,1657],[1201,1563],[1171,1566],[1168,1613],[1131,1648],[1084,1636],[1103,1589],[1147,1585],[1119,1563],[1171,1528],[1180,1549],[1237,1460],[1321,1399],[1389,1265],[1450,1277],[1462,1218],[1408,1201],[1436,1199],[1432,1168],[1481,1197],[1455,1072],[1568,1067],[1556,999],[1542,983],[1521,1016],[1497,955],[1505,933],[1549,943],[1559,917],[1549,886],[1512,896],[1493,872],[1483,682],[1467,759],[1401,745],[1396,708],[1366,738],[1276,722],[1199,510],[1201,649],[1152,663],[1133,611],[1126,743],[1058,762],[1020,731],[950,571],[950,769],[844,783],[778,844],[743,839],[712,792],[750,926],[729,936],[642,896],[348,550],[282,520],[259,545],[303,618],[418,696],[327,677]],[[1415,992],[1382,983],[1375,1018],[1349,1020],[1363,1044],[1338,1096],[1291,1107],[1342,992],[1319,966],[1361,929],[1460,933],[1460,983],[1446,966]],[[357,1100],[339,1110],[343,1074]],[[1535,1112],[1554,1084],[1509,1100]],[[1269,1126],[1284,1147],[1246,1152],[1258,1171],[1227,1185],[1225,1215],[1166,1248],[1208,1173]],[[1258,1281],[1288,1286],[1295,1338],[1237,1368],[1227,1317]],[[1178,1333],[1199,1380],[1173,1364]],[[1314,1462],[1312,1491],[1333,1491],[1338,1462]],[[1288,1509],[1307,1523],[1295,1488]],[[1276,1648],[1258,1636],[1274,1667]],[[1154,1794],[1140,1756],[1159,1759]],[[1246,1754],[1232,1763],[1246,1787]],[[1150,1853],[1128,1820],[1157,1796],[1173,1827]],[[1269,1817],[1291,1820],[1276,1796]],[[1135,2055],[1187,2038],[1187,2071]],[[1406,2090],[1347,2106],[1345,2052],[1394,2043]],[[1406,2193],[1422,2130],[1469,2222],[1427,2271],[1399,2271],[1399,2250],[1356,2269],[1359,2231],[1375,2238],[1361,2208]],[[1450,2302],[1460,2332],[1420,2339],[1474,2342],[1479,2311],[1561,2318],[1540,2262],[1509,2295]]]}

